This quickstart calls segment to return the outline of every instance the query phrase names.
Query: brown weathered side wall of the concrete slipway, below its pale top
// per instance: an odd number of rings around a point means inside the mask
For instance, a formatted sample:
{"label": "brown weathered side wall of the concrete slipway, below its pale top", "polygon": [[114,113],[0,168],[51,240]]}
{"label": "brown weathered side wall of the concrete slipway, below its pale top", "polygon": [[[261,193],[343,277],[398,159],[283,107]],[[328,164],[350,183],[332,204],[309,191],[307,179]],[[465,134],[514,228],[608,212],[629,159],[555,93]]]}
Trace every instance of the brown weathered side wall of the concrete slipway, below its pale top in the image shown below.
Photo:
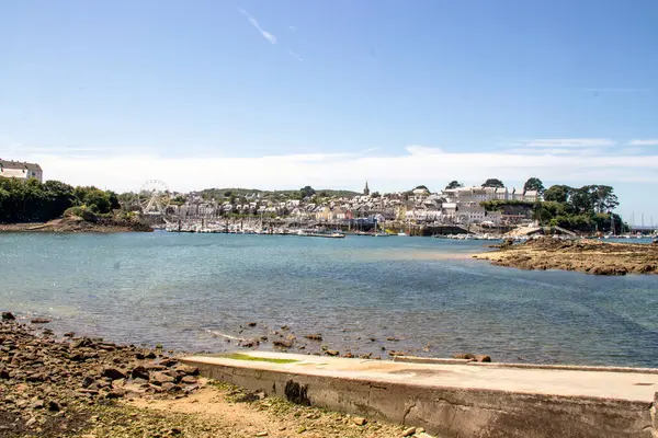
{"label": "brown weathered side wall of the concrete slipway, below its pale top", "polygon": [[[206,377],[441,437],[658,438],[650,403],[418,387],[195,362]],[[658,400],[655,401],[658,405]]]}

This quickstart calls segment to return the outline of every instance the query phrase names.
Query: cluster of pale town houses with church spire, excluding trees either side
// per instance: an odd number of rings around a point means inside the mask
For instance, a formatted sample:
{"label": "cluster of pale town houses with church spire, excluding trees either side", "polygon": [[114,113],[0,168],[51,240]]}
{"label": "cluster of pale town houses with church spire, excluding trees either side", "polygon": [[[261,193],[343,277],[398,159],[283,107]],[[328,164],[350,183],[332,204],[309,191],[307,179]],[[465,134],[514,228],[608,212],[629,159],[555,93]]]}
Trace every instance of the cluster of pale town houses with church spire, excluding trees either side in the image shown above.
{"label": "cluster of pale town houses with church spire, excluding trees either side", "polygon": [[[180,205],[168,211],[181,218],[216,218],[223,216],[265,216],[293,218],[298,221],[340,222],[371,219],[378,222],[412,221],[445,224],[518,224],[532,221],[532,207],[540,199],[537,191],[507,187],[470,186],[439,192],[420,185],[407,192],[381,195],[368,184],[361,194],[327,196],[304,187],[299,196],[252,192],[236,196],[225,192],[223,199],[203,193],[178,195]],[[509,201],[506,208],[487,211],[486,201]]]}

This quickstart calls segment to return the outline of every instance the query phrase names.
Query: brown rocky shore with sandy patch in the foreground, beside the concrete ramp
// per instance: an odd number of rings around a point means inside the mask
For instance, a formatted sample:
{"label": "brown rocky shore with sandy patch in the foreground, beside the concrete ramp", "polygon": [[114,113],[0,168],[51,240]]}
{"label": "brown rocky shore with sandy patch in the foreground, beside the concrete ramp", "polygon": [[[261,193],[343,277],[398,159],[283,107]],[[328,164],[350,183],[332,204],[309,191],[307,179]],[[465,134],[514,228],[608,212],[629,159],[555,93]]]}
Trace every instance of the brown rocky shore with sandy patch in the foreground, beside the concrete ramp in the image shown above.
{"label": "brown rocky shore with sandy patch in the foreground, beside the concrete ramp", "polygon": [[161,348],[0,321],[0,438],[429,437],[207,381]]}

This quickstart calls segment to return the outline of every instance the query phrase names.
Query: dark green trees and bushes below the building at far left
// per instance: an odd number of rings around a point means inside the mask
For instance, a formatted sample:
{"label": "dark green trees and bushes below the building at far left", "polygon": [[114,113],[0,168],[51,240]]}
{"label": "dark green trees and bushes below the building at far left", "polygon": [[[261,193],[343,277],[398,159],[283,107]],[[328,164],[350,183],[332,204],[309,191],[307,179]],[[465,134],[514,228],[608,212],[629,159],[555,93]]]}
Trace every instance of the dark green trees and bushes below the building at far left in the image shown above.
{"label": "dark green trees and bushes below the building at far left", "polygon": [[106,215],[121,208],[114,192],[98,187],[73,187],[59,181],[0,177],[0,222],[45,222],[69,208]]}

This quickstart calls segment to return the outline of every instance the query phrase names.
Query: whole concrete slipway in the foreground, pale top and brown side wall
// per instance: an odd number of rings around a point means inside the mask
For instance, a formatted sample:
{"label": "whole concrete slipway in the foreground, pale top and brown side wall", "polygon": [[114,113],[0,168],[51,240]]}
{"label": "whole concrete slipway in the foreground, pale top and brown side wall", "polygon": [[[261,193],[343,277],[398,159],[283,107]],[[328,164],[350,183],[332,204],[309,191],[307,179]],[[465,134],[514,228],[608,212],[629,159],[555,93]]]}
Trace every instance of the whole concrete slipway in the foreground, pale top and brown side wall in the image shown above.
{"label": "whole concrete slipway in the foreground, pale top and brown side wall", "polygon": [[249,355],[257,359],[182,360],[219,381],[295,403],[422,426],[442,437],[648,438],[656,431],[650,411],[658,389],[655,374],[636,379],[623,372]]}

